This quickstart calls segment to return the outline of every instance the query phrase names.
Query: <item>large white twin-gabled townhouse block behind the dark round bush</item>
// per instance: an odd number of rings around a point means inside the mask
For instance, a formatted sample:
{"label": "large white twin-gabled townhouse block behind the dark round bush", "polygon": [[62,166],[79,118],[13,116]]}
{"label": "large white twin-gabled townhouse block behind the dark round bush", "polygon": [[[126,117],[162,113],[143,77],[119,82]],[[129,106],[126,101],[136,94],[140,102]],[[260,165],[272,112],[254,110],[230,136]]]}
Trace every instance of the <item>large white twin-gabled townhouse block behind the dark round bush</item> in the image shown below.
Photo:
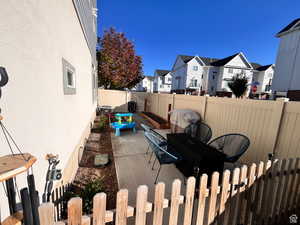
{"label": "large white twin-gabled townhouse block behind the dark round bush", "polygon": [[241,52],[223,59],[179,55],[172,68],[172,92],[228,96],[228,81],[237,73],[252,82],[253,67]]}

